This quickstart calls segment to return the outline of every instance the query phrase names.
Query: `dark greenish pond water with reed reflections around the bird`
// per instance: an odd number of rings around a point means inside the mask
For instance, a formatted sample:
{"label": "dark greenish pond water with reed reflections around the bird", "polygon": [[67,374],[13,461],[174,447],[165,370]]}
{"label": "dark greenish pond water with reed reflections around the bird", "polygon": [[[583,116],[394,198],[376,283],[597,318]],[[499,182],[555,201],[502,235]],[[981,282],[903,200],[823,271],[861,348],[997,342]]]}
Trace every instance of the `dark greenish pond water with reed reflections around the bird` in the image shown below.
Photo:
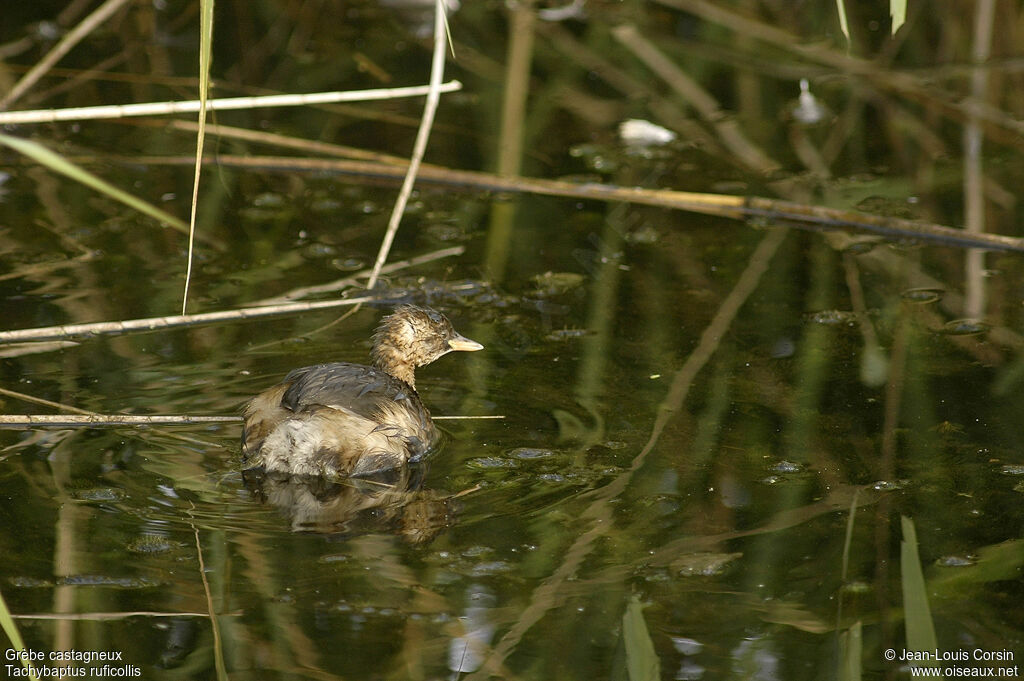
{"label": "dark greenish pond water with reed reflections around the bird", "polygon": [[[584,17],[532,25],[529,97],[511,124],[523,174],[963,225],[966,124],[948,102],[968,92],[972,36],[956,27],[974,25],[973,3],[911,7],[895,39],[886,7],[857,8],[849,53],[827,3],[797,17],[765,3],[761,26],[831,55],[818,59],[678,4],[588,3]],[[10,65],[41,58],[52,27],[39,22],[62,8],[5,18]],[[81,73],[58,72],[14,108],[191,96],[170,77],[194,73],[193,12],[131,5],[61,62],[115,59],[118,77],[48,93]],[[418,35],[429,12],[217,12],[219,95],[428,76]],[[1020,17],[998,12],[986,97],[1019,118]],[[507,142],[506,69],[520,58],[506,51],[513,19],[504,4],[466,3],[451,22],[449,74],[465,88],[442,100],[427,161],[493,170]],[[631,24],[706,88],[717,116],[640,62],[636,34],[612,30]],[[842,68],[876,56],[871,78]],[[3,70],[4,89],[24,72]],[[913,87],[891,85],[894,74]],[[818,125],[793,121],[800,78],[829,109]],[[421,105],[215,122],[407,156]],[[679,137],[629,147],[616,127],[631,117]],[[1016,235],[1021,145],[992,118],[981,126],[987,228]],[[191,169],[140,157],[187,156],[194,133],[159,121],[6,132],[184,217]],[[207,144],[225,157],[297,154],[224,135]],[[3,154],[5,330],[179,310],[181,235]],[[208,166],[189,312],[366,269],[395,194],[324,172]],[[234,424],[2,430],[0,592],[25,615],[29,649],[121,653],[76,669],[146,679],[889,679],[909,678],[898,657],[929,645],[947,677],[1018,674],[1021,258],[990,253],[971,269],[947,244],[852,236],[424,186],[390,259],[465,252],[387,276],[386,295],[445,311],[486,347],[421,370],[431,411],[504,418],[439,422],[440,451],[387,485],[245,479]],[[365,361],[387,309],[327,329],[339,311],[0,346],[2,411],[60,411],[39,398],[102,414],[238,414],[290,369]],[[3,647],[10,676],[20,668]]]}

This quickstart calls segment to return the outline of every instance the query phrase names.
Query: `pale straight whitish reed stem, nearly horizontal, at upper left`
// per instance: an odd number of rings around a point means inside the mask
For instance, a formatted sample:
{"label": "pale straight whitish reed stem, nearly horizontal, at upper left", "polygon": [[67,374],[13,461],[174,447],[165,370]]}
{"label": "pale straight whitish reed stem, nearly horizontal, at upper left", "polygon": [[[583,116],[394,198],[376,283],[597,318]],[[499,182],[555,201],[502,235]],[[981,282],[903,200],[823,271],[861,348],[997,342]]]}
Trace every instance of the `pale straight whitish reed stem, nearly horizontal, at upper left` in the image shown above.
{"label": "pale straight whitish reed stem, nearly horizontal, at upper left", "polygon": [[[440,93],[462,89],[459,81],[438,84]],[[209,99],[206,110],[227,111],[234,109],[268,109],[271,107],[306,107],[310,104],[331,104],[343,101],[373,101],[377,99],[399,99],[401,97],[422,97],[430,93],[430,86],[377,88],[350,92],[313,92],[310,94],[271,94],[261,97],[225,97]],[[133,116],[164,116],[167,114],[196,114],[200,111],[199,99],[188,101],[150,101],[137,104],[104,104],[102,107],[80,107],[77,109],[44,109],[26,112],[0,112],[0,125],[25,123],[56,123],[58,121],[95,121],[100,119],[130,118]]]}

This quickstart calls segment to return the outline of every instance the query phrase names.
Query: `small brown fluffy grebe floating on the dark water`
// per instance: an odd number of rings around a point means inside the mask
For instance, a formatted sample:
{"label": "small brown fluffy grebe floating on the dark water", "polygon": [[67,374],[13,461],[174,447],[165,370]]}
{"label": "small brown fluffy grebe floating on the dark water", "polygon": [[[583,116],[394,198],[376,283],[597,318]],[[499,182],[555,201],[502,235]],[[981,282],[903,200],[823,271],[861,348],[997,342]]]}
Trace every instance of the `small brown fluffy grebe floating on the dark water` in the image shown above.
{"label": "small brown fluffy grebe floating on the dark water", "polygon": [[452,350],[483,346],[432,309],[403,305],[374,334],[374,366],[296,369],[246,405],[247,466],[293,475],[368,475],[397,468],[437,441],[414,372]]}

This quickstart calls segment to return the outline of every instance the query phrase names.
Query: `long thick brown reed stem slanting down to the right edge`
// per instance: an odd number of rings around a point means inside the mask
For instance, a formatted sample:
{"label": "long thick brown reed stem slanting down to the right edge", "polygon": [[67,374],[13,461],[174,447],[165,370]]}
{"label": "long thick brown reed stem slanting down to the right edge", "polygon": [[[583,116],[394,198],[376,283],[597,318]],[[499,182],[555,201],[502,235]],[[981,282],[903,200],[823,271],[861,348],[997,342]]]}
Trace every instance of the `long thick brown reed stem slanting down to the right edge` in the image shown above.
{"label": "long thick brown reed stem slanting down to the right edge", "polygon": [[[146,157],[124,159],[133,164],[182,165],[195,163],[191,157]],[[406,169],[393,164],[350,161],[344,159],[298,159],[282,156],[206,157],[204,163],[221,167],[259,168],[276,172],[314,172],[359,175],[365,177],[397,179]],[[622,201],[644,206],[683,210],[705,215],[733,219],[762,218],[769,222],[781,221],[786,226],[809,226],[824,229],[853,229],[881,235],[889,239],[911,239],[957,246],[984,248],[993,251],[1024,253],[1024,239],[992,233],[969,233],[924,220],[906,220],[871,215],[859,211],[810,206],[792,201],[763,197],[737,197],[723,194],[678,191],[675,189],[647,189],[615,186],[598,182],[566,182],[532,177],[502,177],[493,173],[470,170],[450,170],[423,167],[419,181],[441,186],[465,186],[486,191],[537,194],[549,197],[584,199],[591,201]]]}

